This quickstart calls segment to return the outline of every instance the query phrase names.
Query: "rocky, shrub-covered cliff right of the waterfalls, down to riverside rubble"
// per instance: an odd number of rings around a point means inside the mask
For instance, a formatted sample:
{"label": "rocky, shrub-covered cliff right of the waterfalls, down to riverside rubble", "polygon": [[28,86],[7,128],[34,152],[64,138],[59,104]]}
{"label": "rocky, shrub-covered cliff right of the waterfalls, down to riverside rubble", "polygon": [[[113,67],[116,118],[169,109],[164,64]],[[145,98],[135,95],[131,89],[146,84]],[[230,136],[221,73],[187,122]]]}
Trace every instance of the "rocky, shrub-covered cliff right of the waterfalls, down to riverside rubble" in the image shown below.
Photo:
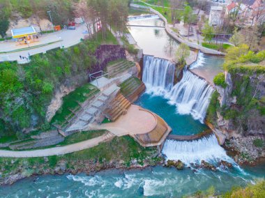
{"label": "rocky, shrub-covered cliff right of the waterfalls, down to riverside rubble", "polygon": [[216,86],[207,121],[227,137],[225,147],[239,163],[265,157],[265,72],[236,68],[225,73],[226,86]]}

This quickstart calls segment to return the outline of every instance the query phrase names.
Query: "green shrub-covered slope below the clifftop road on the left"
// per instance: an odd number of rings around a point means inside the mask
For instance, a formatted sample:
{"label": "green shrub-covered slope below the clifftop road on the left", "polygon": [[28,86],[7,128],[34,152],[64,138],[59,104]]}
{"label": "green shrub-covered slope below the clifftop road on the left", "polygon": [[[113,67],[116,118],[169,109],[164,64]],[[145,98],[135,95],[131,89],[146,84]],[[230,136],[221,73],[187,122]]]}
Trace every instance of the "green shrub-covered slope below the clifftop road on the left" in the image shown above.
{"label": "green shrub-covered slope below the clifftop road on the left", "polygon": [[0,63],[0,137],[15,133],[22,137],[28,130],[47,128],[47,106],[59,86],[84,84],[88,71],[100,70],[116,56],[125,56],[121,47],[113,45],[109,54],[108,45],[100,47],[101,43],[116,44],[116,39],[108,32],[106,40],[98,36],[73,47],[36,54],[24,65]]}

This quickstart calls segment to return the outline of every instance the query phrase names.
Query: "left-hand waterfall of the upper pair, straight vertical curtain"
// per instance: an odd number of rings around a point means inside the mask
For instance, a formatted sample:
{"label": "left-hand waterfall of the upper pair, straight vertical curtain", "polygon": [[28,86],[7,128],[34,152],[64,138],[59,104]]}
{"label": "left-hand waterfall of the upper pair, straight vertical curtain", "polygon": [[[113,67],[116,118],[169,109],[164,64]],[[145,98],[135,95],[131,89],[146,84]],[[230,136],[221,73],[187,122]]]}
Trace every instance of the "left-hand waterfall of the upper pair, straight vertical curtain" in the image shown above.
{"label": "left-hand waterfall of the upper pair, straight vertical curtain", "polygon": [[161,95],[172,89],[174,82],[174,63],[144,55],[143,82],[146,84],[146,91]]}

